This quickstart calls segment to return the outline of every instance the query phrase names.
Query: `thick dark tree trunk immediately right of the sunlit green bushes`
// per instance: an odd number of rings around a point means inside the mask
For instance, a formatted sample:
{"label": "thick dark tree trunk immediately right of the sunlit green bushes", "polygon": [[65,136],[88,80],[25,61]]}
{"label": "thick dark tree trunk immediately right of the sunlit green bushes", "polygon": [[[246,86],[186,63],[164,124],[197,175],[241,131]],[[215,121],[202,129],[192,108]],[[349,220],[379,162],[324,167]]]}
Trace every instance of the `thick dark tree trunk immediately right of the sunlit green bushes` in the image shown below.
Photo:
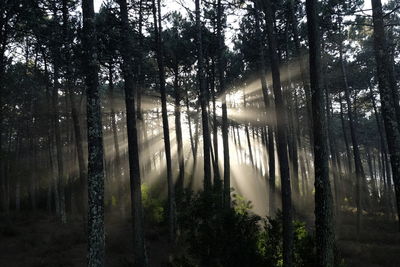
{"label": "thick dark tree trunk immediately right of the sunlit green bushes", "polygon": [[318,23],[318,1],[307,0],[307,26],[310,46],[310,85],[313,115],[315,166],[315,229],[318,266],[333,265],[333,208],[329,182],[328,143],[321,86],[321,44]]}

